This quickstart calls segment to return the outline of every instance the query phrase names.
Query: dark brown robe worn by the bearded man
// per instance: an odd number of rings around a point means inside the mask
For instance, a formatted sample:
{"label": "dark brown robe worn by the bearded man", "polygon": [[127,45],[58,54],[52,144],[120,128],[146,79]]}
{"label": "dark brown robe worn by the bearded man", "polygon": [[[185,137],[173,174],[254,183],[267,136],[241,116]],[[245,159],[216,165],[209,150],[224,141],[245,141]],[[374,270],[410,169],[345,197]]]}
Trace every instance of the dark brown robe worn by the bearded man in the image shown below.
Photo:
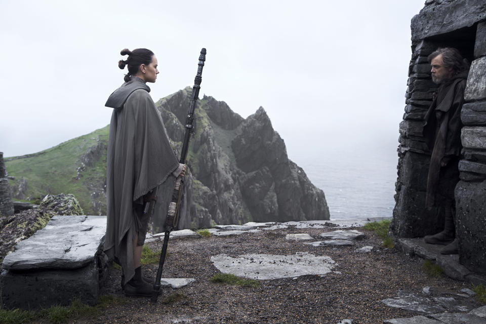
{"label": "dark brown robe worn by the bearded man", "polygon": [[448,83],[440,85],[425,114],[423,135],[432,150],[425,198],[427,208],[435,203],[441,161],[461,154],[461,108],[467,74],[468,71],[459,73]]}

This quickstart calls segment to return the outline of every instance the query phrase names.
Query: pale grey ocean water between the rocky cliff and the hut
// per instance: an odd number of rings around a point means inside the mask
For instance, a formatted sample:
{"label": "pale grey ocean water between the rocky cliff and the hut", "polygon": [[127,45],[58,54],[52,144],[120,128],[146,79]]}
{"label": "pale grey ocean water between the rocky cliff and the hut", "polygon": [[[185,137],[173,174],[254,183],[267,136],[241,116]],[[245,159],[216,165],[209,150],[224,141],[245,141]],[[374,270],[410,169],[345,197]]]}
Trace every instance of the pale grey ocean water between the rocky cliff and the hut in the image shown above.
{"label": "pale grey ocean water between the rocky cliff and the hut", "polygon": [[[351,155],[351,154],[349,154]],[[375,158],[354,154],[296,163],[326,195],[331,219],[392,217],[397,178],[396,153]]]}

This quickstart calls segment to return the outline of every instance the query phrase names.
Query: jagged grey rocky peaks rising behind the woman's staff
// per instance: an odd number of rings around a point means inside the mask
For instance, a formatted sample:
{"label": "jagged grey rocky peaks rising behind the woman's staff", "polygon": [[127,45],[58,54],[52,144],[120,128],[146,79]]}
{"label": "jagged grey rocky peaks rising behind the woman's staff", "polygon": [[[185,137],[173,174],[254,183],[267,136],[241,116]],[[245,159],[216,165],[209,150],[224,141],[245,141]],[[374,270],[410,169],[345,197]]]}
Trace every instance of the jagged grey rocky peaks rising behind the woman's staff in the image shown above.
{"label": "jagged grey rocky peaks rising behind the woman's staff", "polygon": [[[190,88],[157,102],[169,137],[184,137]],[[192,174],[195,228],[248,221],[303,221],[329,219],[322,190],[289,160],[284,141],[260,107],[244,119],[229,106],[204,96],[195,112],[195,136],[188,166]],[[178,145],[175,145],[178,147]],[[191,205],[191,204],[189,204]]]}

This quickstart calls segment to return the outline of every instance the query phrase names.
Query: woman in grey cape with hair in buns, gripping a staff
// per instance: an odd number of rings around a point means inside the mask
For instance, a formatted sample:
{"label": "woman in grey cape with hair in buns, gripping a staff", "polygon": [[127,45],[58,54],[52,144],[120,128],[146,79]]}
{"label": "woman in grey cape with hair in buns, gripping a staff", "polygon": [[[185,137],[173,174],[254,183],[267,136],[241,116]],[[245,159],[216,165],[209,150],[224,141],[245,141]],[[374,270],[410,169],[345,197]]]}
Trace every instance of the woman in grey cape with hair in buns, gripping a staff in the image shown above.
{"label": "woman in grey cape with hair in buns, gripping a staff", "polygon": [[[106,102],[114,108],[110,121],[106,167],[107,225],[104,250],[123,268],[121,286],[127,296],[151,296],[152,283],[142,276],[140,259],[150,215],[144,195],[172,176],[183,176],[147,82],[158,70],[152,51],[124,49],[118,67],[128,65],[125,83]],[[145,199],[146,200],[146,199]],[[160,199],[159,199],[160,200]]]}

